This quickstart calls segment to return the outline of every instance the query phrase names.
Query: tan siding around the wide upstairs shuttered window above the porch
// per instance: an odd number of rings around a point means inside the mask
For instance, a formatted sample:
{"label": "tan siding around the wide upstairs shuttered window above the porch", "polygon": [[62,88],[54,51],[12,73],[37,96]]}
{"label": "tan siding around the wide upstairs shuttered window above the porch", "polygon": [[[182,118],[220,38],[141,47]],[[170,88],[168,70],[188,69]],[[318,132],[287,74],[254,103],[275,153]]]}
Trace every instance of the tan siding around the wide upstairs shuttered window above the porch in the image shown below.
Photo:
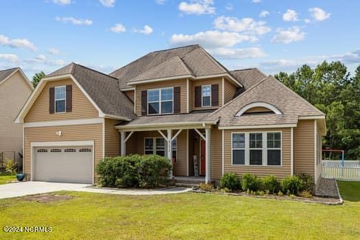
{"label": "tan siding around the wide upstairs shuttered window above the porch", "polygon": [[141,91],[180,86],[180,113],[187,113],[187,80],[169,80],[136,85],[136,115],[141,116]]}

